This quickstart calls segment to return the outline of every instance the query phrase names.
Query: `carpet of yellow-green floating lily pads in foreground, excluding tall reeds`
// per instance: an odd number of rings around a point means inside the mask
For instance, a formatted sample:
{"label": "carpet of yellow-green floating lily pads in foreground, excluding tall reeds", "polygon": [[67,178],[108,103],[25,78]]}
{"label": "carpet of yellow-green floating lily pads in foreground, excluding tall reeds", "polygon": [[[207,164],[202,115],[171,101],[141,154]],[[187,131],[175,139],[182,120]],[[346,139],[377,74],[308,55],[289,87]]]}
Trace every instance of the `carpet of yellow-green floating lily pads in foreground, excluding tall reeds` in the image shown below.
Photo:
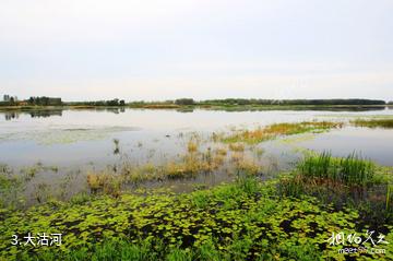
{"label": "carpet of yellow-green floating lily pads in foreground, excluding tall reeds", "polygon": [[[342,230],[360,234],[358,217],[356,210],[336,211],[312,197],[279,199],[274,182],[245,177],[189,194],[93,197],[1,213],[0,259],[340,260],[326,239]],[[13,234],[41,232],[62,233],[63,245],[9,242]],[[383,232],[391,240],[391,229]]]}

